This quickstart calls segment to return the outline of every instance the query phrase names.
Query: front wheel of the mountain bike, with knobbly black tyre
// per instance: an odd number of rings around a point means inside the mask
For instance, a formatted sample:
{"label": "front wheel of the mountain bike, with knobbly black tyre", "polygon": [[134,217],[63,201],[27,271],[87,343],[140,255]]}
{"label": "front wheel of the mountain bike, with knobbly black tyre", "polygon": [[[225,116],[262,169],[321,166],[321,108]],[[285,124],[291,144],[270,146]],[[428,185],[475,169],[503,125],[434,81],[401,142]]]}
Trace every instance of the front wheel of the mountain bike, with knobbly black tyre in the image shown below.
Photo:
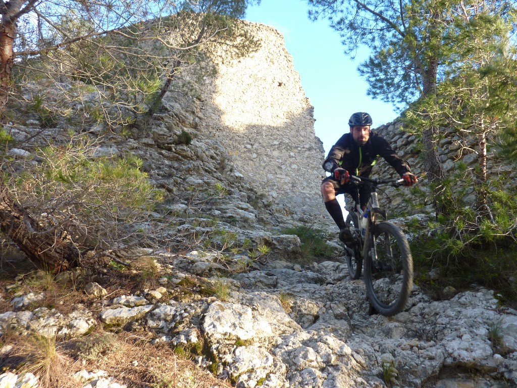
{"label": "front wheel of the mountain bike, with knobbly black tyre", "polygon": [[413,285],[413,258],[404,233],[391,222],[372,226],[371,258],[364,263],[364,282],[373,307],[382,315],[398,314]]}

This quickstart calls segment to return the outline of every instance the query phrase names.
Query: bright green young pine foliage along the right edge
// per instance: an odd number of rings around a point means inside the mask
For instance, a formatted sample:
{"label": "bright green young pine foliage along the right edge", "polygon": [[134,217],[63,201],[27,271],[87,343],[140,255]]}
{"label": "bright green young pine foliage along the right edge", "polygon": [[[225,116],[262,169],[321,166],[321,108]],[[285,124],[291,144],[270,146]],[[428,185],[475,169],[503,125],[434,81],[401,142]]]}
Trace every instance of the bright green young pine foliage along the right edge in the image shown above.
{"label": "bright green young pine foliage along the right edge", "polygon": [[[517,155],[514,22],[514,12],[493,9],[455,19],[444,35],[443,80],[435,94],[405,112],[413,130],[447,128],[442,137],[452,138],[459,150],[452,156],[460,160],[431,187],[442,212],[431,225],[434,234],[415,244],[414,258],[443,268],[454,286],[481,283],[509,300],[515,297],[517,196],[512,171],[502,162]],[[465,155],[469,162],[461,161]]]}

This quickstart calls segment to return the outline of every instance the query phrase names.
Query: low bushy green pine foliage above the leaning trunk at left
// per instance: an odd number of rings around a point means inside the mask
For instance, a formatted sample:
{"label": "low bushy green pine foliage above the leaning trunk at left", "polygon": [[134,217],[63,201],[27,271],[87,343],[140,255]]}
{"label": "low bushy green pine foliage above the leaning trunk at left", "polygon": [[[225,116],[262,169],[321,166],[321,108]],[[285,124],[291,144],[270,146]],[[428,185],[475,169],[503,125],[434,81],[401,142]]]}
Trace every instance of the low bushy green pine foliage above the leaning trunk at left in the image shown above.
{"label": "low bushy green pine foliage above the leaning trunk at left", "polygon": [[147,220],[163,192],[149,183],[141,159],[101,151],[86,137],[41,148],[35,152],[39,163],[6,176],[12,196],[38,215],[41,225],[59,228],[77,247],[111,249],[137,241],[136,226]]}

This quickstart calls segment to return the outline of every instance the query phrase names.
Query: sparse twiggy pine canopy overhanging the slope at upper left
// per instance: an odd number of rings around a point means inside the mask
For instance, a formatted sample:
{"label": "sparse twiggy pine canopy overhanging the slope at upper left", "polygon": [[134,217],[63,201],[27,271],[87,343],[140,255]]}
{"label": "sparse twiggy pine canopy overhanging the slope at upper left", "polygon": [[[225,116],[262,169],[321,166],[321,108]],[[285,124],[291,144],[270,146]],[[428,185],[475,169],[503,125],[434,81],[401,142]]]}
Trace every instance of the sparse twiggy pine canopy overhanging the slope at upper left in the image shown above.
{"label": "sparse twiggy pine canopy overhanging the slope at upper left", "polygon": [[[8,23],[15,38],[0,42],[13,63],[2,75],[0,118],[27,80],[44,80],[59,89],[64,105],[80,101],[85,113],[93,105],[89,118],[109,126],[152,115],[166,92],[188,91],[185,69],[196,69],[191,77],[207,76],[211,54],[242,56],[260,47],[238,20],[254,3],[260,0],[17,3]],[[40,122],[54,126],[62,113],[43,104]]]}

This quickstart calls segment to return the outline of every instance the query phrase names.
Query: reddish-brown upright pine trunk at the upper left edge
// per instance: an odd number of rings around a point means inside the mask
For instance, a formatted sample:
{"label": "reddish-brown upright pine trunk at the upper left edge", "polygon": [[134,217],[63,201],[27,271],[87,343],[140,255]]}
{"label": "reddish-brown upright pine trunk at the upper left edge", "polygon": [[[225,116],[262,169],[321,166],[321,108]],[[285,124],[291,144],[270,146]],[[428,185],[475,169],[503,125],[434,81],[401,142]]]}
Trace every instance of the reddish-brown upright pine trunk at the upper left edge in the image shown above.
{"label": "reddish-brown upright pine trunk at the upper left edge", "polygon": [[3,20],[0,24],[0,122],[4,120],[7,111],[14,64],[13,43],[16,36],[16,23],[5,20],[5,17],[2,15]]}

